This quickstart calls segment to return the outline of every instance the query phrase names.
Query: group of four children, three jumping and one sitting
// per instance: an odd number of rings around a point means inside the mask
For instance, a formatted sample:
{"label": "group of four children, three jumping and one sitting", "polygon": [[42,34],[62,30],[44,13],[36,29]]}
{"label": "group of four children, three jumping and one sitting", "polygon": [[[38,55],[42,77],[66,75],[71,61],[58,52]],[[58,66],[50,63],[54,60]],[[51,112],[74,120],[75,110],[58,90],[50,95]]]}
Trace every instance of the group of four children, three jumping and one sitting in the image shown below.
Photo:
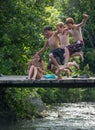
{"label": "group of four children, three jumping and one sitting", "polygon": [[[73,61],[69,62],[70,57],[80,56],[83,61],[84,42],[81,28],[85,25],[88,15],[83,15],[83,20],[80,24],[75,24],[74,19],[69,17],[66,19],[66,25],[63,22],[57,23],[56,31],[52,30],[51,26],[44,28],[44,36],[46,42],[30,61],[28,65],[28,79],[41,79],[45,74],[44,62],[40,55],[46,50],[50,49],[49,63],[47,68],[57,75],[58,79],[62,79],[62,72],[69,77],[71,73],[71,66],[79,69],[79,65]],[[69,34],[72,35],[74,43],[69,43]]]}

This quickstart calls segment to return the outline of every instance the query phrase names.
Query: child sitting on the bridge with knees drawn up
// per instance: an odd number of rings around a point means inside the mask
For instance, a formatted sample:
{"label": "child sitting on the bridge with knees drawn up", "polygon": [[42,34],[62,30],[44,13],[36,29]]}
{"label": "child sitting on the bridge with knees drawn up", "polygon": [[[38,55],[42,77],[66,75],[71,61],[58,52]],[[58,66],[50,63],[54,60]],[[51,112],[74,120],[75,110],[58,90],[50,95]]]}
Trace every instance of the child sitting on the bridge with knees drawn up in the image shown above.
{"label": "child sitting on the bridge with knees drawn up", "polygon": [[44,62],[39,55],[35,54],[28,65],[28,79],[41,79],[44,73]]}

